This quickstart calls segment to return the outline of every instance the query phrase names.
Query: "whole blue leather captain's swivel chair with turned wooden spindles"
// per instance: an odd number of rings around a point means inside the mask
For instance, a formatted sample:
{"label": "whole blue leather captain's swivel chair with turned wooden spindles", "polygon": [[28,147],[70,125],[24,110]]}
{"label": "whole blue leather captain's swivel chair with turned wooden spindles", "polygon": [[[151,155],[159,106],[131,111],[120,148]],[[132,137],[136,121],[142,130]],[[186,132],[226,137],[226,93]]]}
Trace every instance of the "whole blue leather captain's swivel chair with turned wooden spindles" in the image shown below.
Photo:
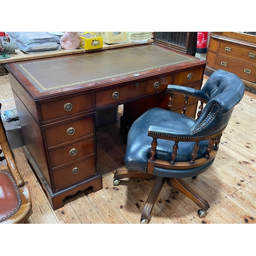
{"label": "whole blue leather captain's swivel chair with turned wooden spindles", "polygon": [[[208,202],[182,178],[196,177],[214,163],[221,136],[244,91],[245,86],[238,76],[218,70],[201,90],[175,85],[167,87],[169,110],[173,95],[184,95],[182,114],[152,108],[133,123],[127,137],[126,169],[115,173],[114,185],[122,178],[155,179],[142,210],[141,223],[149,221],[165,181],[193,200],[199,207],[198,215],[204,216]],[[197,119],[185,115],[189,98],[201,101]]]}

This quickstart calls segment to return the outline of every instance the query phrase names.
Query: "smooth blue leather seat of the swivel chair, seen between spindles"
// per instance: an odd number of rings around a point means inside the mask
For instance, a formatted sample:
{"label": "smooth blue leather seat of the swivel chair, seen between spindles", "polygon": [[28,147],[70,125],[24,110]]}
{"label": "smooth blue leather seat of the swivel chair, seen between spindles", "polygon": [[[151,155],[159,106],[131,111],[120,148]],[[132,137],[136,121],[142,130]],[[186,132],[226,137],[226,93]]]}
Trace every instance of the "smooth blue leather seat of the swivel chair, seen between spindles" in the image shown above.
{"label": "smooth blue leather seat of the swivel chair, seen between spindles", "polygon": [[[145,168],[147,166],[147,160],[150,157],[152,143],[152,137],[147,136],[147,130],[150,125],[160,125],[166,126],[168,128],[188,130],[191,126],[194,125],[195,122],[196,121],[190,117],[161,108],[153,108],[146,111],[133,123],[129,131],[127,137],[126,154],[124,159],[125,167],[127,169],[135,169],[142,172],[145,171]],[[157,154],[155,157],[157,159],[170,161],[174,141],[158,139],[157,142]],[[197,159],[205,156],[208,143],[209,140],[201,141],[199,143]],[[194,145],[195,142],[179,142],[179,149],[175,161],[190,161]],[[171,171],[172,170],[168,170],[168,172]]]}

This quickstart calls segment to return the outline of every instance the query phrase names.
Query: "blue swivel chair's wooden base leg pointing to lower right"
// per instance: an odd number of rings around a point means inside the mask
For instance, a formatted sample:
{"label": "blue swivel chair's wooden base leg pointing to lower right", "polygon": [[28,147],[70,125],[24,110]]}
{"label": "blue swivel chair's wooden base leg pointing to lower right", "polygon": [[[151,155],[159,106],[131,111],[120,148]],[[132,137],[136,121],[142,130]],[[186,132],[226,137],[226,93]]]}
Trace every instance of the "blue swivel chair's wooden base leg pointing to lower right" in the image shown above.
{"label": "blue swivel chair's wooden base leg pointing to lower right", "polygon": [[193,188],[188,186],[183,179],[167,178],[167,184],[190,198],[202,210],[207,211],[207,209],[210,208],[208,202],[202,196],[200,196]]}

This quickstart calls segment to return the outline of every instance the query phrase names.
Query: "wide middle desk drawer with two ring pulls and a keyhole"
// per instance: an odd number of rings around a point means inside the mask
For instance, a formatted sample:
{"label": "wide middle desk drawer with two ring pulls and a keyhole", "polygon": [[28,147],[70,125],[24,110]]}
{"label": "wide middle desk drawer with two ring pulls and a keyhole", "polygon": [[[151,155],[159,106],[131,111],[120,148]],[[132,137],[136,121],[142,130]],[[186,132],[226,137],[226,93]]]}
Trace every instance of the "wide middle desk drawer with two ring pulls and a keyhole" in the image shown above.
{"label": "wide middle desk drawer with two ring pulls and a keyhole", "polygon": [[168,75],[96,92],[96,108],[163,91],[171,82],[172,75]]}

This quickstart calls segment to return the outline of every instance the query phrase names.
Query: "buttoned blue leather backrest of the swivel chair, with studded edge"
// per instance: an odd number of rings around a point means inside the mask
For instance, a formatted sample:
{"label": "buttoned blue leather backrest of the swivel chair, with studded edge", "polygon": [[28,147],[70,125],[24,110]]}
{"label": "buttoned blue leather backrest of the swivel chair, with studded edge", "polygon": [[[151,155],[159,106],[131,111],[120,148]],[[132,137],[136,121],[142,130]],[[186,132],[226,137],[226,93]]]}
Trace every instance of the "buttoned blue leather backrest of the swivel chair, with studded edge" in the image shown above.
{"label": "buttoned blue leather backrest of the swivel chair, with studded edge", "polygon": [[243,98],[244,83],[232,73],[217,70],[199,93],[207,104],[197,119],[191,133],[197,136],[217,134],[225,129],[233,108]]}

